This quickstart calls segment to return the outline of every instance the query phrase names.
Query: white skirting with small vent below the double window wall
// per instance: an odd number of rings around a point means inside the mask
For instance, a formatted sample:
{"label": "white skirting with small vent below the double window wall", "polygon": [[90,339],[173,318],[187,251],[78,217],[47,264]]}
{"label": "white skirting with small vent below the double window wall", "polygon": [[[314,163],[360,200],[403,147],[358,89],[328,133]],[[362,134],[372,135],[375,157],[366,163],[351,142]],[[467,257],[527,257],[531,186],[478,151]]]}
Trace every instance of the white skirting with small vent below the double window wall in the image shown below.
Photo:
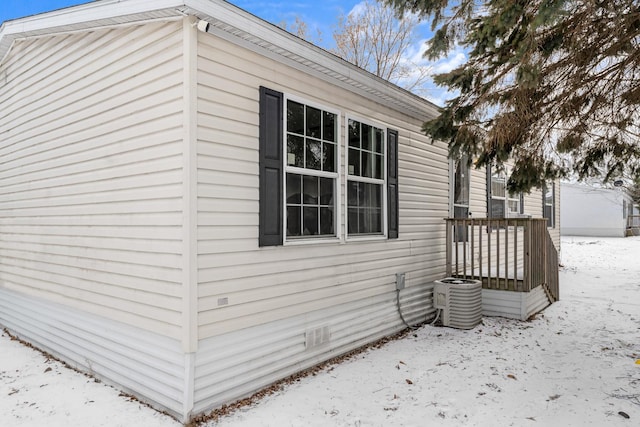
{"label": "white skirting with small vent below the double window wall", "polygon": [[[433,313],[431,293],[432,286],[403,291],[400,302],[407,322],[417,323]],[[388,295],[377,295],[201,340],[194,412],[220,407],[320,360],[393,334],[404,326],[392,301]],[[306,334],[318,328],[328,332],[330,345],[309,348]]]}

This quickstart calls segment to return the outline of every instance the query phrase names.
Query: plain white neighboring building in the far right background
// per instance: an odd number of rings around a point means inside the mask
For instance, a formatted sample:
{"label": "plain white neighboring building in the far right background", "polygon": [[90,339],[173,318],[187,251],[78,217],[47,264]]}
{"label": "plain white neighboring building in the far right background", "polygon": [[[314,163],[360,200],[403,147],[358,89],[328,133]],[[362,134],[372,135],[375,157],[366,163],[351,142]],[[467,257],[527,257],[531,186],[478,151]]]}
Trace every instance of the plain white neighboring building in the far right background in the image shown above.
{"label": "plain white neighboring building in the far right background", "polygon": [[567,182],[561,187],[563,236],[625,237],[634,225],[633,200],[623,187],[597,188]]}

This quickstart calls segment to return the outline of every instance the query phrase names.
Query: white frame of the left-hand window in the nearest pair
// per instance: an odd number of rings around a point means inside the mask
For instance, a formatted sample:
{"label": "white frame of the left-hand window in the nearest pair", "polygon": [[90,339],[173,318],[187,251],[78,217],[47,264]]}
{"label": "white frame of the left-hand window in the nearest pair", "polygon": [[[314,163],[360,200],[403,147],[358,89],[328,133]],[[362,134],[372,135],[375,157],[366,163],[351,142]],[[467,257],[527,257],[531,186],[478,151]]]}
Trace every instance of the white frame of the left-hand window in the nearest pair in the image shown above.
{"label": "white frame of the left-hand window in the nearest pair", "polygon": [[[287,157],[287,129],[288,129],[288,121],[287,121],[287,110],[289,101],[297,102],[299,104],[303,104],[305,106],[313,107],[325,111],[327,113],[332,113],[336,115],[336,171],[335,172],[326,172],[322,170],[315,169],[307,169],[301,168],[297,166],[289,166],[288,157]],[[343,232],[342,232],[342,224],[340,218],[342,217],[341,212],[341,203],[342,195],[341,195],[341,171],[342,166],[340,163],[341,155],[341,130],[342,130],[342,112],[335,108],[310,101],[305,98],[297,97],[294,95],[283,94],[283,131],[282,131],[282,162],[283,162],[283,174],[282,174],[282,212],[283,212],[283,221],[282,221],[282,236],[283,236],[283,245],[305,245],[305,244],[318,244],[322,242],[340,242],[343,240]],[[306,120],[306,117],[305,117]],[[309,235],[309,236],[295,236],[289,237],[287,235],[287,174],[294,173],[299,175],[309,175],[309,176],[317,176],[320,178],[331,178],[334,180],[334,213],[333,213],[333,222],[334,222],[334,234],[333,235]]]}

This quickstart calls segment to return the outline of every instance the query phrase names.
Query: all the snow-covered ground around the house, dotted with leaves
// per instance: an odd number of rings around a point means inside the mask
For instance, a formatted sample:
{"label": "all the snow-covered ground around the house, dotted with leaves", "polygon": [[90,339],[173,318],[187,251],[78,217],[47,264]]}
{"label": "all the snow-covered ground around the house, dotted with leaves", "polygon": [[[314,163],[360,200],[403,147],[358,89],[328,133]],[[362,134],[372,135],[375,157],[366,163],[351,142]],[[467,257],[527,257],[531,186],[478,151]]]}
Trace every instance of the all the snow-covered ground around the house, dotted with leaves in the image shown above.
{"label": "all the snow-covered ground around the house, dotted with leaves", "polygon": [[[531,322],[424,326],[212,426],[640,425],[640,237],[565,237],[561,301]],[[180,424],[0,338],[0,426]]]}

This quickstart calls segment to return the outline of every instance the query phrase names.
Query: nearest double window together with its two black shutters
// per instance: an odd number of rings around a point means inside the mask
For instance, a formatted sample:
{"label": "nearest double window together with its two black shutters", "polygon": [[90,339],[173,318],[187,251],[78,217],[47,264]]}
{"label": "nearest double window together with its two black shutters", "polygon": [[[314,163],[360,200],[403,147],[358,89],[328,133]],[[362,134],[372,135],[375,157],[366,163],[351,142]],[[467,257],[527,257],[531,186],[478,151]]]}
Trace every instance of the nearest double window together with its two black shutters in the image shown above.
{"label": "nearest double window together with its two black shutters", "polygon": [[[398,237],[398,132],[349,119],[341,144],[340,117],[330,108],[260,88],[260,246],[341,238],[343,176],[345,234]],[[341,147],[347,162],[342,171]]]}

